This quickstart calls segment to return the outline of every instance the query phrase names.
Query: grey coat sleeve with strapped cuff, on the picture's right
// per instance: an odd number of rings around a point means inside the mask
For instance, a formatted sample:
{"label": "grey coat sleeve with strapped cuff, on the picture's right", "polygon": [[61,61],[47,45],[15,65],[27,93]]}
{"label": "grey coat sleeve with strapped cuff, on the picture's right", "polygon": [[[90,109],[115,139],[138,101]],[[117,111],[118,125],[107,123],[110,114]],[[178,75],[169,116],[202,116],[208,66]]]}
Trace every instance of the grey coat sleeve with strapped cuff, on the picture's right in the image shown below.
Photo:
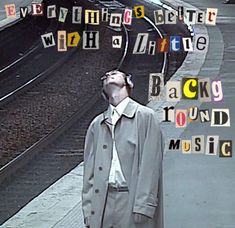
{"label": "grey coat sleeve with strapped cuff, on the picture's right", "polygon": [[139,174],[133,213],[154,217],[158,206],[158,188],[163,158],[163,138],[157,116],[151,112],[147,121],[143,151],[140,157]]}

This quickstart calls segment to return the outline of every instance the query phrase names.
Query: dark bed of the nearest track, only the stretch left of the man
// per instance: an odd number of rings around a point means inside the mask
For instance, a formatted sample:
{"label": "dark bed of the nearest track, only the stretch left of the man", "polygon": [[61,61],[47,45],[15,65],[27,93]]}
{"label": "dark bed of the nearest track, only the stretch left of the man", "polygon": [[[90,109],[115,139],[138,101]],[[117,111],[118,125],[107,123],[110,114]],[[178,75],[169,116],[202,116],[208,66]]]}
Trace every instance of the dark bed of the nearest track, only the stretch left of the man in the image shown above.
{"label": "dark bed of the nearest track, only the stretch left of the man", "polygon": [[[5,205],[5,208],[0,208],[0,224],[82,161],[83,141],[89,121],[100,113],[106,104],[95,98],[90,100],[89,105],[96,107],[93,112],[84,107],[79,116],[74,116],[79,120],[70,119],[65,126],[57,129],[54,135],[50,135],[49,139],[44,138],[42,144],[39,142],[38,145],[34,145],[8,165],[8,171],[4,174],[6,177],[16,166],[23,166],[26,160],[32,159],[30,164],[17,171],[16,178],[5,180],[4,188],[0,189],[0,204]],[[63,131],[68,125],[73,127],[48,144],[57,136],[58,131]],[[1,177],[2,175],[1,172]]]}

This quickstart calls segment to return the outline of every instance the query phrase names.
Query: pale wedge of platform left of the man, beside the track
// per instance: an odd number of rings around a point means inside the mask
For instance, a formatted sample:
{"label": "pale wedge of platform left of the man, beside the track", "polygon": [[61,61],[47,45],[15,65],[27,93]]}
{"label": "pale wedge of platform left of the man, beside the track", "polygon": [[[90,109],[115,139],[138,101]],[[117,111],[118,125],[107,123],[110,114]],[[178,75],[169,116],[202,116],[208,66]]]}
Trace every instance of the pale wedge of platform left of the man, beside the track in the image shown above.
{"label": "pale wedge of platform left of the man, beside the track", "polygon": [[4,228],[85,228],[81,208],[83,164],[34,198]]}

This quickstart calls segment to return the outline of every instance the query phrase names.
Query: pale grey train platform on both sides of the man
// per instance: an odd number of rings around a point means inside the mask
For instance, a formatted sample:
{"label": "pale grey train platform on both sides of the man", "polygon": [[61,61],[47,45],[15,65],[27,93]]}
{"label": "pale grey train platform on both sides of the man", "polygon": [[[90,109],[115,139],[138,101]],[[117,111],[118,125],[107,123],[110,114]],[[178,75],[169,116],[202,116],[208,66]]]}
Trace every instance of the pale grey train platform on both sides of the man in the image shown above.
{"label": "pale grey train platform on both sides of the man", "polygon": [[[151,0],[154,2],[154,0]],[[170,79],[181,80],[184,76],[221,79],[224,101],[221,104],[199,101],[151,101],[148,106],[162,118],[162,107],[185,108],[196,105],[202,109],[230,108],[235,110],[235,5],[223,5],[220,0],[165,0],[169,7],[218,8],[216,26],[194,27],[195,34],[207,34],[210,39],[207,53],[189,53],[178,71]],[[235,140],[235,115],[231,113],[231,127],[219,128],[222,139]],[[215,129],[200,124],[187,128],[175,128],[173,123],[162,123],[166,139],[187,138],[192,135],[214,135]],[[174,129],[174,131],[172,131]],[[167,142],[166,142],[167,143]],[[233,228],[235,227],[235,161],[165,150],[164,154],[164,221],[166,228]],[[81,189],[83,165],[51,185],[34,198],[17,214],[6,221],[3,228],[83,228]]]}

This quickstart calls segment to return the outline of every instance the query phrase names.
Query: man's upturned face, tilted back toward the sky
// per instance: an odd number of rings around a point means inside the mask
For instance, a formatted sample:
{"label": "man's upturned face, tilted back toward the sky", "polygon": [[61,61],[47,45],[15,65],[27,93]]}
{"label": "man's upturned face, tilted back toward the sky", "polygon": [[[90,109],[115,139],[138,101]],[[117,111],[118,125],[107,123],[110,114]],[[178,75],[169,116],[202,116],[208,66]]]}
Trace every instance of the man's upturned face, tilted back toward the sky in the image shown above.
{"label": "man's upturned face, tilted back toward the sky", "polygon": [[107,72],[101,79],[103,80],[104,88],[108,85],[116,85],[118,87],[126,85],[125,75],[118,70]]}

